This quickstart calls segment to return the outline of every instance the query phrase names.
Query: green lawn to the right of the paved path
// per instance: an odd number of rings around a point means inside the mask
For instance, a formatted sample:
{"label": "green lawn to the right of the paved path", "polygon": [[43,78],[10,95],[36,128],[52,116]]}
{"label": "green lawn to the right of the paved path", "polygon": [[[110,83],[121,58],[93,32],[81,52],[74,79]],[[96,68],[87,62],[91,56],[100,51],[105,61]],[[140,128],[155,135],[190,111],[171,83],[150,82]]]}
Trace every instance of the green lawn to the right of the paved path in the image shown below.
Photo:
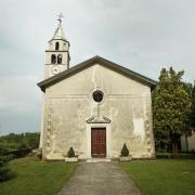
{"label": "green lawn to the right of the paved path", "polygon": [[195,160],[121,162],[145,195],[195,195]]}

